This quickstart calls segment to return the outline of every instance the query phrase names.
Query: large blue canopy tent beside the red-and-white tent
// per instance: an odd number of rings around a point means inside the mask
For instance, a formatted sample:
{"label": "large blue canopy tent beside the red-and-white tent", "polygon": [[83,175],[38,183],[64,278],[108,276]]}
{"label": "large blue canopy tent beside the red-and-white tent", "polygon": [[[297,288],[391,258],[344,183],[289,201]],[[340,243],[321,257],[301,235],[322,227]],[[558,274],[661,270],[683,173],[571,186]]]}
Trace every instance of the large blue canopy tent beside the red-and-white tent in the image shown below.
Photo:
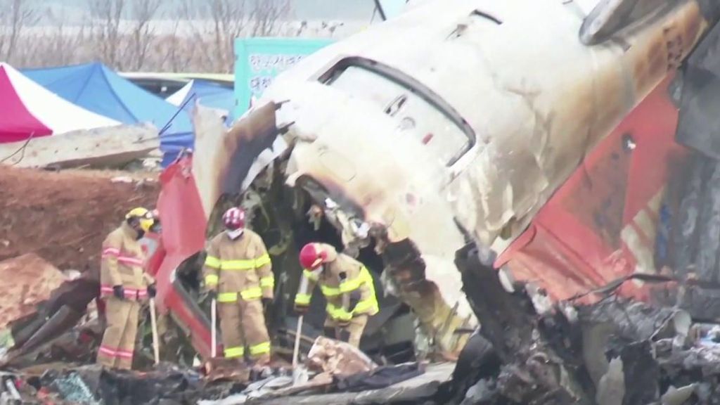
{"label": "large blue canopy tent beside the red-and-white tent", "polygon": [[22,73],[69,102],[125,124],[152,123],[163,129],[172,120],[161,134],[163,166],[183,148],[194,145],[192,123],[185,111],[135,86],[102,63],[26,69]]}

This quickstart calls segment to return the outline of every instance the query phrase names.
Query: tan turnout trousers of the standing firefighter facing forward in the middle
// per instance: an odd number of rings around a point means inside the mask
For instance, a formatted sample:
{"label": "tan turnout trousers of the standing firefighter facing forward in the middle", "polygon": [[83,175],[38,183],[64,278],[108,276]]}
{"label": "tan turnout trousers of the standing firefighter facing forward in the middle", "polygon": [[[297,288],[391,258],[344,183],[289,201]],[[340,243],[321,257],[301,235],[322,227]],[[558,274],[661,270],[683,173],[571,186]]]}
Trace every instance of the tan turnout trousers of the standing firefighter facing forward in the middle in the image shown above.
{"label": "tan turnout trousers of the standing firefighter facing forward in the middle", "polygon": [[252,360],[270,360],[270,337],[265,326],[265,314],[260,300],[217,303],[225,358],[245,356],[245,348]]}

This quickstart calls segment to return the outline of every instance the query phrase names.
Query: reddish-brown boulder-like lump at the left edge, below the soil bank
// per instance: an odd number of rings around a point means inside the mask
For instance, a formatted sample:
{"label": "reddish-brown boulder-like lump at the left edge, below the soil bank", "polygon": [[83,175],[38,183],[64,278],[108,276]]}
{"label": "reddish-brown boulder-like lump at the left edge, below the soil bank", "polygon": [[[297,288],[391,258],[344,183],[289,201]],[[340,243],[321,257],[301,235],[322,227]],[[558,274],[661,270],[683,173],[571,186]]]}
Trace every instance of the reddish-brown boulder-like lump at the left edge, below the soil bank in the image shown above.
{"label": "reddish-brown boulder-like lump at the left edge, below the soil bank", "polygon": [[37,305],[50,298],[66,280],[60,270],[36,254],[24,254],[0,262],[0,325],[37,311]]}

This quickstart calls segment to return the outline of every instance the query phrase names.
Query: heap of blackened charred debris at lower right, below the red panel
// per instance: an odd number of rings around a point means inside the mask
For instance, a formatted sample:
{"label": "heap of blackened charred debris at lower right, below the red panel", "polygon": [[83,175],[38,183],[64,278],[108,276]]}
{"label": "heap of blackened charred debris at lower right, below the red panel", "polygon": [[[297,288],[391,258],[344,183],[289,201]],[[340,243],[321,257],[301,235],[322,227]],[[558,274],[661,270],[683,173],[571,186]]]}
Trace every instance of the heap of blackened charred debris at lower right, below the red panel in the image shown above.
{"label": "heap of blackened charred debris at lower right, below the red panel", "polygon": [[483,324],[446,387],[455,403],[716,403],[717,328],[677,308],[619,298],[619,282],[591,305],[538,306],[528,285],[505,290],[476,249],[457,262]]}

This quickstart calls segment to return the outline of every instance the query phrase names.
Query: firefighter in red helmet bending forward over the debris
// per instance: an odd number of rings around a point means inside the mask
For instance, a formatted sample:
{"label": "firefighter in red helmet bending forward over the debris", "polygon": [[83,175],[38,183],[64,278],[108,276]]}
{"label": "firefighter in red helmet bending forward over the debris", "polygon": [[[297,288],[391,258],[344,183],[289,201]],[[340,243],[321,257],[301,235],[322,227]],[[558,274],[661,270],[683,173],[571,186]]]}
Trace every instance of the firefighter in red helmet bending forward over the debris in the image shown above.
{"label": "firefighter in red helmet bending forward over the debris", "polygon": [[361,262],[328,244],[312,243],[300,251],[302,279],[295,312],[307,313],[316,284],[328,301],[325,336],[359,347],[370,316],[379,311],[372,275]]}

